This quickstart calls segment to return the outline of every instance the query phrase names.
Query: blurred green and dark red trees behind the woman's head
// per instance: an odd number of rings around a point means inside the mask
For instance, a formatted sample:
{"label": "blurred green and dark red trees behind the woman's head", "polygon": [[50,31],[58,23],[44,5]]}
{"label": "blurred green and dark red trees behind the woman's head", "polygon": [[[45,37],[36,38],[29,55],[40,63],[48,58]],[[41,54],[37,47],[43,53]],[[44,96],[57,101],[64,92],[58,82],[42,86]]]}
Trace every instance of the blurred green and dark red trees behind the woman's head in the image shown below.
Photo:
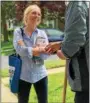
{"label": "blurred green and dark red trees behind the woman's head", "polygon": [[[24,9],[30,4],[37,4],[41,8],[42,21],[39,28],[60,28],[63,30],[64,1],[1,1],[1,37],[3,42],[9,41],[9,35],[13,34],[15,27],[23,25]],[[50,20],[52,21],[50,22]],[[48,25],[45,24],[46,21]]]}

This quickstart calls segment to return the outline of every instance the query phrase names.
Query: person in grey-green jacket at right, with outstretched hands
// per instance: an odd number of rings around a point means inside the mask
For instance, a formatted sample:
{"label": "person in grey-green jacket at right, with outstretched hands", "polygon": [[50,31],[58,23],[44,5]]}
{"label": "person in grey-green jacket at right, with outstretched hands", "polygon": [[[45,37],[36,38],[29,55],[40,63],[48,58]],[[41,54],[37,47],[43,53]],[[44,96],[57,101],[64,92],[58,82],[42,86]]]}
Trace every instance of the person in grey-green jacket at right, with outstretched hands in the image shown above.
{"label": "person in grey-green jacket at right, with outstretched hands", "polygon": [[62,43],[50,44],[48,53],[57,51],[67,60],[67,74],[75,103],[89,103],[89,19],[85,1],[71,1],[66,8]]}

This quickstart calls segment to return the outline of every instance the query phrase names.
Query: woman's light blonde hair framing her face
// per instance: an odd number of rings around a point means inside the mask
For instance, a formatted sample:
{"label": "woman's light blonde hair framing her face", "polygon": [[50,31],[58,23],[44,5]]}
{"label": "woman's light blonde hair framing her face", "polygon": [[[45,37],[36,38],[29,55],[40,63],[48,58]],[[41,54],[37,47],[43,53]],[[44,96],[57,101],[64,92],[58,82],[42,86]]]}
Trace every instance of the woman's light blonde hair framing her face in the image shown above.
{"label": "woman's light blonde hair framing her face", "polygon": [[[24,15],[23,15],[23,23],[24,25],[27,25],[27,17],[29,15],[29,13],[34,9],[34,8],[39,8],[40,7],[36,4],[32,4],[32,5],[29,5],[25,10],[24,10]],[[40,9],[41,11],[41,9]],[[41,22],[41,17],[39,18],[38,22],[37,22],[37,25],[39,25]]]}

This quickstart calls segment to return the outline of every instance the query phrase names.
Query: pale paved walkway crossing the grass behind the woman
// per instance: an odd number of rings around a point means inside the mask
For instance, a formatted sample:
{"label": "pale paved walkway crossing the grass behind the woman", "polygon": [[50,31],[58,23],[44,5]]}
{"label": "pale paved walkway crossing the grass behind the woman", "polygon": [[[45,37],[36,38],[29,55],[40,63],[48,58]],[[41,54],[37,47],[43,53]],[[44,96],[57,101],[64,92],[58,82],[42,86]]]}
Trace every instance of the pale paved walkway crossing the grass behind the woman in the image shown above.
{"label": "pale paved walkway crossing the grass behind the woman", "polygon": [[[48,70],[48,74],[55,74],[59,72],[64,72],[65,67],[55,68]],[[8,84],[9,78],[1,79],[1,103],[17,103],[17,97],[10,92],[9,88],[6,86]]]}

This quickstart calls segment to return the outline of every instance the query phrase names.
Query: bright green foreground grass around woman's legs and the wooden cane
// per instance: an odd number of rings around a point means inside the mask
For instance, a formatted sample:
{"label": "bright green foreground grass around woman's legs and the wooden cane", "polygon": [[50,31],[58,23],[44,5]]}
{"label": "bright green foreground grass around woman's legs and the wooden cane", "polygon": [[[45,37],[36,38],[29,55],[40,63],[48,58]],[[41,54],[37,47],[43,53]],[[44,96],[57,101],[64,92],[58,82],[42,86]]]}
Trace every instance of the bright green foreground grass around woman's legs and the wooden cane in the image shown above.
{"label": "bright green foreground grass around woman's legs and the wooden cane", "polygon": [[[48,76],[48,102],[49,103],[62,103],[63,95],[63,81],[64,73],[57,73]],[[29,98],[30,102],[37,103],[37,96],[34,88],[31,89]],[[74,93],[71,92],[69,85],[67,86],[66,103],[74,103]]]}

